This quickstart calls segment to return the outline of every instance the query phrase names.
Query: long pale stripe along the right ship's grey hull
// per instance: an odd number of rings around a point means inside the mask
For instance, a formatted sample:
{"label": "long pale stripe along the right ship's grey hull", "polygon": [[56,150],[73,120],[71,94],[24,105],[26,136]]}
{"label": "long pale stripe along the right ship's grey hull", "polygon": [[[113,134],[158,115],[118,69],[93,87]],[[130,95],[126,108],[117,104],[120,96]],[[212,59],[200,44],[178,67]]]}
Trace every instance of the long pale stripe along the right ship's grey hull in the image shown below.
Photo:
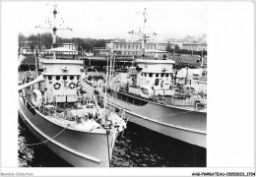
{"label": "long pale stripe along the right ship's grey hull", "polygon": [[[113,103],[111,103],[111,102],[109,102],[109,101],[107,101],[107,103],[110,104],[110,105],[112,105],[112,106],[114,106],[114,107],[121,108],[120,106],[114,105]],[[205,134],[205,135],[206,135],[206,133],[203,132],[203,131],[198,131],[198,130],[193,130],[193,129],[187,129],[187,128],[183,128],[183,127],[179,127],[179,126],[173,126],[173,125],[170,125],[170,124],[162,123],[162,122],[160,122],[160,121],[153,120],[153,119],[150,119],[150,118],[148,118],[148,117],[142,116],[142,115],[137,114],[137,113],[134,113],[134,112],[132,112],[132,111],[129,111],[129,110],[125,109],[125,108],[124,108],[124,111],[125,111],[125,112],[128,112],[128,113],[130,113],[130,114],[133,114],[133,115],[135,115],[135,116],[138,116],[138,117],[140,117],[140,118],[146,119],[146,120],[148,120],[148,121],[156,122],[156,123],[161,124],[161,125],[165,125],[165,126],[172,127],[172,128],[175,128],[175,129],[180,129],[180,130],[184,130],[184,131],[195,132],[195,133]]]}

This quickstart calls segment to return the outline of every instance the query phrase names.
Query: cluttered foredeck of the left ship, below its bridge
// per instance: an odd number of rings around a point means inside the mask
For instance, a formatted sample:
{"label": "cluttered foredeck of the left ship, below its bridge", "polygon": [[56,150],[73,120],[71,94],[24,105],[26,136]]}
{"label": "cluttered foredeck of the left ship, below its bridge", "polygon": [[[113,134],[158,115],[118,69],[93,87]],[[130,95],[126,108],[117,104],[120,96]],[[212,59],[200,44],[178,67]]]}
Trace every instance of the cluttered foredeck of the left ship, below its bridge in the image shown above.
{"label": "cluttered foredeck of the left ship, below its bridge", "polygon": [[[27,105],[30,105],[29,109],[38,111],[42,117],[59,126],[68,126],[68,129],[82,132],[92,132],[93,130],[96,130],[96,132],[105,132],[97,122],[98,120],[96,120],[96,107],[94,106],[88,107],[83,102],[78,106],[77,103],[69,102],[46,104],[35,108],[31,100],[27,98],[29,96],[28,91],[26,94],[27,96],[24,98],[28,101]],[[20,99],[23,103],[22,92],[20,92]]]}

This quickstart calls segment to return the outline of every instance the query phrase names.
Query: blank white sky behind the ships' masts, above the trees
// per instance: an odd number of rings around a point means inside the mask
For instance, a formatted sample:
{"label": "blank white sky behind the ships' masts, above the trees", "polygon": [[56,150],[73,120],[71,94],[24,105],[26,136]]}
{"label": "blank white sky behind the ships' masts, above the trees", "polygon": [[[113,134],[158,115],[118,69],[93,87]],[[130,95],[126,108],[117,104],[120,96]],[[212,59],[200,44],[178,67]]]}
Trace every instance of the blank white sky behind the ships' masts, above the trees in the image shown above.
{"label": "blank white sky behind the ships' masts, above the trees", "polygon": [[[58,2],[57,27],[70,27],[70,30],[58,30],[62,37],[126,38],[138,39],[128,33],[143,27],[144,9],[147,9],[146,31],[157,32],[153,40],[170,37],[183,37],[206,33],[206,7],[202,2],[168,1],[75,1]],[[17,16],[17,29],[25,35],[50,31],[35,29],[35,26],[48,27],[45,21],[53,18],[52,2],[13,2],[3,8],[12,9]],[[61,19],[62,18],[62,19]],[[64,23],[63,23],[64,21]]]}

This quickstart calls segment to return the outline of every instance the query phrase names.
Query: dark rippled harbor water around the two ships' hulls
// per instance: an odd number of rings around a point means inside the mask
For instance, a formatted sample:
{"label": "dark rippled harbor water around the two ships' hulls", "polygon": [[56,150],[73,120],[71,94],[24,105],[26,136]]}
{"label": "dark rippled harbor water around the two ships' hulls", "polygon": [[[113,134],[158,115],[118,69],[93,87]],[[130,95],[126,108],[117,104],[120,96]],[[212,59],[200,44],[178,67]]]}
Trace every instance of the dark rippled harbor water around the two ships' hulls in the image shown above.
{"label": "dark rippled harbor water around the two ships' hulls", "polygon": [[[39,143],[19,117],[20,167],[72,167]],[[113,148],[110,167],[206,167],[206,148],[192,146],[133,123]]]}

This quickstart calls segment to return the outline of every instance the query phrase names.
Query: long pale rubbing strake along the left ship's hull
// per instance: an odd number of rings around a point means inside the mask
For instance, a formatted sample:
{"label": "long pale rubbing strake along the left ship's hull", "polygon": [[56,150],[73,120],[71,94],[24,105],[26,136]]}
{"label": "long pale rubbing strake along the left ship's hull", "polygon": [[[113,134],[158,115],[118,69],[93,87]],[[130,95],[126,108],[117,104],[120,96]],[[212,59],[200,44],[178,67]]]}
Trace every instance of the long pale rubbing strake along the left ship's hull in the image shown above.
{"label": "long pale rubbing strake along the left ship's hull", "polygon": [[68,148],[68,147],[66,147],[66,146],[63,146],[63,145],[61,145],[60,143],[58,143],[58,142],[56,142],[56,141],[54,141],[54,140],[51,140],[50,137],[46,136],[46,135],[43,134],[39,129],[37,129],[35,126],[32,125],[32,122],[31,122],[31,121],[27,118],[27,116],[24,114],[24,112],[22,111],[22,109],[21,109],[20,106],[19,106],[19,111],[20,111],[20,113],[23,114],[24,118],[30,123],[30,125],[32,126],[32,128],[33,128],[37,133],[39,133],[41,136],[43,136],[45,139],[49,140],[50,142],[52,142],[52,143],[55,144],[56,146],[58,146],[58,147],[60,147],[60,148],[64,148],[64,149],[66,149],[66,150],[68,150],[68,151],[70,151],[70,152],[72,152],[72,153],[75,153],[75,154],[77,154],[77,155],[79,155],[79,156],[82,156],[82,157],[84,157],[84,158],[87,158],[87,159],[89,159],[89,160],[96,161],[97,163],[100,163],[100,162],[101,162],[100,159],[98,159],[98,158],[96,158],[96,157],[94,157],[94,156],[91,156],[91,155],[88,155],[88,154],[85,154],[85,153],[81,153],[81,152],[79,152],[79,151],[77,151],[77,150],[74,150],[74,149],[72,149],[72,148]]}

